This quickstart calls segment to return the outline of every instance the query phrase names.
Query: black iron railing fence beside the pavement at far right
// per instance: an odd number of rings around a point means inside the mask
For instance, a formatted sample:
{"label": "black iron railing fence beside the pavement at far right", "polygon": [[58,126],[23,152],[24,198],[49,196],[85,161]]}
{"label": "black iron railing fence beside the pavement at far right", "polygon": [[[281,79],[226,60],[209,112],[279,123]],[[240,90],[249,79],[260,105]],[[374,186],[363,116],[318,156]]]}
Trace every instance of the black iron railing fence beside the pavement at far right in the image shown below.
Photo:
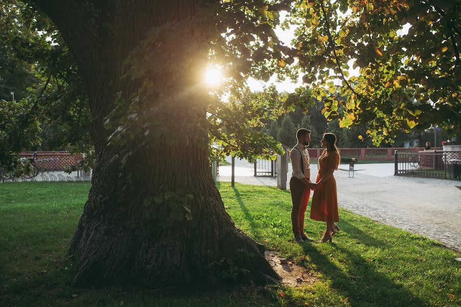
{"label": "black iron railing fence beside the pavement at far right", "polygon": [[395,150],[394,175],[461,179],[461,151],[399,152]]}

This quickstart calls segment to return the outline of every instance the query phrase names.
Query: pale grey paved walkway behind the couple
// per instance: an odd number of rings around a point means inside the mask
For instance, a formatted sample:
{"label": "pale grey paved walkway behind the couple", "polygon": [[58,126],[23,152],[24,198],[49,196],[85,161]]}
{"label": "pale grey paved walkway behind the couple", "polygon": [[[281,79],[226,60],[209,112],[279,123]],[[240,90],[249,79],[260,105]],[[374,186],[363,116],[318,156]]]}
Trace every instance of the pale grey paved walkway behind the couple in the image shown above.
{"label": "pale grey paved walkway behind the couple", "polygon": [[[236,162],[236,182],[277,186],[275,178],[254,177],[252,164]],[[341,164],[334,172],[340,207],[461,252],[461,190],[456,187],[461,182],[393,176],[393,163],[356,164],[354,178],[348,178],[348,169]],[[312,165],[312,181],[317,171]],[[220,166],[219,173],[219,181],[231,181],[231,166]],[[290,174],[289,165],[288,180]]]}

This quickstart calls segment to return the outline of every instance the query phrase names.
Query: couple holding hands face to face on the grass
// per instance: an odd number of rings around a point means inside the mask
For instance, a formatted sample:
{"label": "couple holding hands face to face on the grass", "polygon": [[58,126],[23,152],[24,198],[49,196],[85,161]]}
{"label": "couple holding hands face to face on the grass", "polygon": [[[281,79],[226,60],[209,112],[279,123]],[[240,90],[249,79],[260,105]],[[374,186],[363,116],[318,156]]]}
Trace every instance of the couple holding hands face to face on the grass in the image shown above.
{"label": "couple holding hands face to face on the grass", "polygon": [[321,140],[323,150],[319,157],[319,173],[316,183],[310,181],[309,152],[307,146],[310,141],[310,130],[298,129],[296,133],[298,144],[291,149],[290,159],[292,175],[290,179],[291,227],[298,243],[312,241],[304,233],[304,213],[309,202],[310,190],[313,190],[310,218],[315,221],[326,222],[326,230],[320,242],[332,242],[332,236],[340,229],[335,222],[339,222],[338,196],[336,180],[333,172],[338,169],[340,155],[336,148],[336,136],[325,133]]}

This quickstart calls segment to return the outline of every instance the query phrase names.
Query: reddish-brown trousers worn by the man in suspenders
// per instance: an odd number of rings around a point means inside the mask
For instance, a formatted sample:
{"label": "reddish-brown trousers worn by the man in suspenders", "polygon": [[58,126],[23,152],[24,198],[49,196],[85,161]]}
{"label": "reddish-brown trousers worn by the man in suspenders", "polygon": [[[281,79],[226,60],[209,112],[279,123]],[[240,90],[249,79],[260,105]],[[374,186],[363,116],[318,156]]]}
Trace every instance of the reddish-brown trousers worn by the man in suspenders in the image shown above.
{"label": "reddish-brown trousers worn by the man in suspenders", "polygon": [[291,229],[295,237],[304,234],[304,214],[309,203],[310,189],[296,177],[290,179],[291,192]]}

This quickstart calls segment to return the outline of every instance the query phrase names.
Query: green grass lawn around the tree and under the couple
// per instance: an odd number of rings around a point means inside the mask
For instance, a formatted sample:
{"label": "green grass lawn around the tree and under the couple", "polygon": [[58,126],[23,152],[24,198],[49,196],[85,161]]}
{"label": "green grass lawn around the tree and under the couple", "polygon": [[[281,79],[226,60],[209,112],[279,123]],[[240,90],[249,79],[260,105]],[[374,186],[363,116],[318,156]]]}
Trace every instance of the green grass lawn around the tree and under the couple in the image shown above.
{"label": "green grass lawn around the tree and under the couple", "polygon": [[[333,244],[291,239],[290,195],[272,187],[218,185],[244,232],[315,274],[303,288],[187,292],[79,289],[59,260],[66,254],[89,183],[0,184],[0,306],[459,306],[459,254],[423,236],[340,209]],[[308,212],[306,215],[308,216]],[[324,224],[306,218],[320,239]]]}

